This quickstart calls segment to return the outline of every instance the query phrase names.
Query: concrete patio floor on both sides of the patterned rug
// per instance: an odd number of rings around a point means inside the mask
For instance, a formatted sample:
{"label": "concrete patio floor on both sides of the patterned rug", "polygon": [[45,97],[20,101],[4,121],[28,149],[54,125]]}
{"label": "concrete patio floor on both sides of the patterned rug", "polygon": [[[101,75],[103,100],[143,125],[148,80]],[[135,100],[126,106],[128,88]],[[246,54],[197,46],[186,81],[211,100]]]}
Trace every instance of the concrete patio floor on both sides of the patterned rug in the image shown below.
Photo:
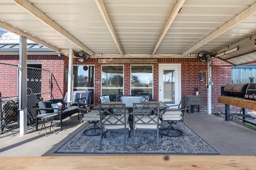
{"label": "concrete patio floor on both sides of the patterned rug", "polygon": [[[198,113],[186,114],[184,123],[221,155],[256,155],[256,131],[252,129],[215,115]],[[28,127],[24,136],[20,136],[18,130],[1,134],[0,156],[82,156],[53,152],[86,125],[86,122],[80,123],[75,114],[64,119],[63,131],[55,127],[57,134],[54,134],[47,128],[47,137],[44,130],[38,134],[35,127]]]}

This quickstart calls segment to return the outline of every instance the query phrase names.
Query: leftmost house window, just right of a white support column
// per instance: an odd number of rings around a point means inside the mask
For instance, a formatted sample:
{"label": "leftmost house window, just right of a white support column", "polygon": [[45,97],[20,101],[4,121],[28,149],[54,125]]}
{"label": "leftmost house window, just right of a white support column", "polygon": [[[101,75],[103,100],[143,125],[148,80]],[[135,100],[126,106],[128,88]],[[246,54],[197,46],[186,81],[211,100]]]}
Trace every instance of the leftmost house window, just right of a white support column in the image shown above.
{"label": "leftmost house window, just right of a white support column", "polygon": [[73,66],[74,91],[94,91],[94,66]]}

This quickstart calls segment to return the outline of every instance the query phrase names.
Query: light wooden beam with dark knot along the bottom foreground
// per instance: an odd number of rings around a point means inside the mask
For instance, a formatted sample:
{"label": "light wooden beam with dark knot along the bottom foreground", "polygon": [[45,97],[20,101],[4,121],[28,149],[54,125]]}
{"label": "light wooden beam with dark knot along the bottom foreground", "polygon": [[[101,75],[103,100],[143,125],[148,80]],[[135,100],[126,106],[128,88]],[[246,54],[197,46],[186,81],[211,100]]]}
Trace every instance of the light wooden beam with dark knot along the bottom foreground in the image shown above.
{"label": "light wooden beam with dark knot along the bottom foreground", "polygon": [[253,170],[256,156],[35,156],[0,157],[1,170]]}

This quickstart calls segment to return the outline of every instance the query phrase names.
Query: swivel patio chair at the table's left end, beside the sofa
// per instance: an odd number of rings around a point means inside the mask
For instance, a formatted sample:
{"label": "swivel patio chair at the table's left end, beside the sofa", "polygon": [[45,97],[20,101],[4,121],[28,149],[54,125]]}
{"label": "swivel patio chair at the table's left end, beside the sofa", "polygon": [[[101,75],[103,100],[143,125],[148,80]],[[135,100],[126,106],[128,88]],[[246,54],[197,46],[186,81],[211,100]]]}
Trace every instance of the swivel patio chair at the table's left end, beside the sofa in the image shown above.
{"label": "swivel patio chair at the table's left end, beside the sofa", "polygon": [[[100,127],[97,126],[97,123],[100,121],[100,114],[98,110],[92,109],[93,105],[87,103],[86,98],[76,99],[78,110],[81,115],[81,123],[83,121],[88,121],[88,123],[93,123],[93,126],[89,129],[86,129],[83,133],[85,136],[98,136],[100,133],[97,133],[97,129]],[[94,130],[94,133],[91,134],[89,131]]]}

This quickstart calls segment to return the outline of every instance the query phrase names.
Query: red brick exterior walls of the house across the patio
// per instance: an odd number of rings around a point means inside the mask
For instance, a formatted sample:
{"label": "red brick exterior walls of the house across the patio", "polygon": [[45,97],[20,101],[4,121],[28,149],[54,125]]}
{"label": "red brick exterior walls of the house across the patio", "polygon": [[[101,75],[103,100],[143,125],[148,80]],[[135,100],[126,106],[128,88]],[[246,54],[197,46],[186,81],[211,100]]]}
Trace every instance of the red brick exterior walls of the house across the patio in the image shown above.
{"label": "red brick exterior walls of the house across the patio", "polygon": [[[127,58],[134,59],[134,58]],[[135,58],[140,59],[140,58]],[[145,59],[145,58],[143,58]],[[207,90],[206,84],[206,70],[207,63],[202,63],[196,58],[148,58],[157,59],[158,63],[152,63],[154,74],[154,101],[158,101],[158,64],[160,63],[181,63],[181,96],[187,94],[195,94],[195,88],[201,87],[199,94],[204,97],[204,108],[207,109]],[[1,63],[18,64],[18,55],[2,55],[0,56]],[[29,61],[42,62],[42,69],[50,70],[50,87],[43,86],[42,88],[50,88],[51,98],[64,98],[68,90],[68,83],[64,82],[65,68],[68,68],[68,57],[62,55],[28,55]],[[73,60],[76,64],[77,60]],[[81,63],[80,63],[81,64]],[[94,82],[94,104],[98,104],[98,98],[101,94],[101,65],[98,59],[90,58],[86,64],[94,65],[95,82]],[[119,63],[122,64],[122,63]],[[150,63],[147,63],[150,64]],[[130,66],[131,64],[124,64],[124,95],[130,94]],[[2,73],[1,74],[7,74]],[[10,74],[10,71],[8,72]],[[200,74],[204,74],[204,82],[200,82]],[[231,83],[231,66],[223,63],[218,59],[212,61],[212,112],[220,112],[225,110],[224,104],[218,103],[218,96],[221,93],[221,86]],[[12,80],[15,84],[16,80]],[[8,89],[0,82],[0,92]],[[8,94],[11,94],[10,91]],[[47,99],[47,98],[46,98]]]}

